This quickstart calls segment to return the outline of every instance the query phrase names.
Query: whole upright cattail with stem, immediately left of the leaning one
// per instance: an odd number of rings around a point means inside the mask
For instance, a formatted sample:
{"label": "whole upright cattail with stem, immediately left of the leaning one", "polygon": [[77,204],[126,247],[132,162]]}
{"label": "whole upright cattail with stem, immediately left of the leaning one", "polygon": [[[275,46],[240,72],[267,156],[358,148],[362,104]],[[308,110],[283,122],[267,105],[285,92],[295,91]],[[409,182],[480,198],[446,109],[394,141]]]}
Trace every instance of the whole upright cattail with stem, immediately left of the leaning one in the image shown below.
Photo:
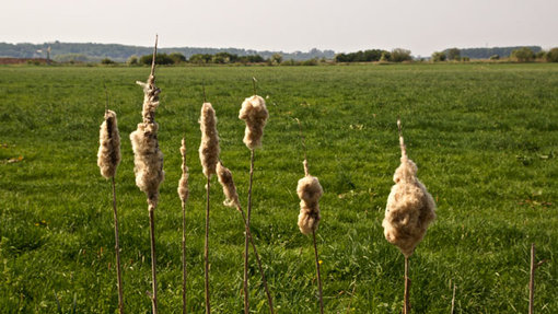
{"label": "whole upright cattail with stem, immediately left of the leaning one", "polygon": [[201,143],[199,146],[199,160],[207,177],[207,202],[206,202],[206,240],[204,245],[205,261],[205,294],[206,294],[206,313],[211,313],[211,304],[209,300],[209,190],[211,175],[216,174],[217,163],[219,161],[219,133],[217,132],[216,111],[210,103],[205,102],[201,105],[201,116],[199,118],[201,130]]}

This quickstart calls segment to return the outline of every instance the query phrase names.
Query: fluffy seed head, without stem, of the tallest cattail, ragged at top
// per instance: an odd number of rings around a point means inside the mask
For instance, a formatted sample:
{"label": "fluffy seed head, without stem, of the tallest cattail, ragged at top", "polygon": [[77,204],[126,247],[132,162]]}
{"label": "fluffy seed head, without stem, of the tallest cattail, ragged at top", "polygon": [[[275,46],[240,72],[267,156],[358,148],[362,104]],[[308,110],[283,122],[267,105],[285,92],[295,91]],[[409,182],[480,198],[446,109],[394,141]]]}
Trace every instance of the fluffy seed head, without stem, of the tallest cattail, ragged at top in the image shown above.
{"label": "fluffy seed head, without stem, of the tallest cattail, ragged at top", "polygon": [[154,77],[150,75],[147,83],[137,82],[143,88],[143,123],[130,133],[133,150],[133,173],[136,185],[146,193],[150,208],[156,207],[159,186],[164,179],[163,153],[159,149],[155,109],[159,106],[159,93],[154,85]]}

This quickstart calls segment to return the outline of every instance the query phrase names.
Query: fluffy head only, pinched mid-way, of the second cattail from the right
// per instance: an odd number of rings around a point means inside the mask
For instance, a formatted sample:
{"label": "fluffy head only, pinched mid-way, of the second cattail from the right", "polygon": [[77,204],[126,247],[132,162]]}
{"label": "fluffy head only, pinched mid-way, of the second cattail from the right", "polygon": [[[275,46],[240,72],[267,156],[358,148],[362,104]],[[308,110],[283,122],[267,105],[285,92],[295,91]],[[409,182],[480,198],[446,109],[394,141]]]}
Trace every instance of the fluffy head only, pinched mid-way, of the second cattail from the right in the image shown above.
{"label": "fluffy head only, pinched mid-way, of the second cattail from the right", "polygon": [[324,194],[319,181],[315,176],[306,175],[299,179],[297,194],[300,201],[299,229],[302,234],[310,234],[317,230],[319,223],[318,200]]}

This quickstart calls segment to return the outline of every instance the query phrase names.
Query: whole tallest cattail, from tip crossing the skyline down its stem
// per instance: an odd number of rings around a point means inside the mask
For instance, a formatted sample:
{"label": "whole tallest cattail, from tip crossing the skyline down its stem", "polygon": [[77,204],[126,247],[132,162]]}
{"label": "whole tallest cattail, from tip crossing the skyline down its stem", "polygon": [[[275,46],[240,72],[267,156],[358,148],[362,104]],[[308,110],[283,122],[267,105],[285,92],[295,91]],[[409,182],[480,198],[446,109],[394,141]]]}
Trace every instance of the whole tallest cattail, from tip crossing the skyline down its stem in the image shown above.
{"label": "whole tallest cattail, from tip crossing the skyline down its stem", "polygon": [[152,292],[151,303],[153,314],[158,311],[156,299],[156,258],[155,258],[155,218],[154,211],[159,202],[159,186],[164,179],[163,153],[159,149],[158,130],[155,123],[155,109],[159,106],[159,94],[161,90],[155,86],[155,56],[156,38],[151,61],[151,73],[148,81],[137,82],[143,88],[143,109],[141,115],[143,121],[138,124],[138,129],[130,133],[131,147],[133,150],[133,172],[136,185],[146,193],[148,197],[149,230],[151,235],[151,278]]}

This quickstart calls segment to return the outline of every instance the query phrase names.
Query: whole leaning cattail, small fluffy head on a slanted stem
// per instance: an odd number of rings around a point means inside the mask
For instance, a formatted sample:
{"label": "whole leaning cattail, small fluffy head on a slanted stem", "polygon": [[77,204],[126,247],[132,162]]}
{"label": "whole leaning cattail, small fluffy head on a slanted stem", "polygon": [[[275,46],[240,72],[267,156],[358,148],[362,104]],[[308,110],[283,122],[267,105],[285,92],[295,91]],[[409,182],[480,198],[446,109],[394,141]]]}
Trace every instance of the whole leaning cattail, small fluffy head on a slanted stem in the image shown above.
{"label": "whole leaning cattail, small fluffy head on a slanted stem", "polygon": [[259,274],[261,275],[261,282],[264,283],[264,289],[266,290],[267,302],[269,304],[269,312],[274,314],[274,300],[271,298],[271,293],[269,292],[269,288],[267,286],[266,275],[264,274],[264,267],[261,267],[261,260],[259,258],[258,251],[256,248],[256,244],[254,243],[254,239],[252,237],[252,233],[249,232],[249,226],[246,221],[246,214],[242,209],[241,202],[239,200],[239,194],[236,193],[236,186],[234,185],[234,181],[232,177],[231,171],[223,166],[221,162],[217,164],[217,178],[219,183],[223,187],[223,194],[225,196],[225,200],[223,205],[226,207],[236,208],[236,210],[242,214],[242,220],[244,222],[244,229],[246,231],[246,235],[252,244],[252,249],[254,251],[254,256],[256,257],[256,261],[258,265]]}

